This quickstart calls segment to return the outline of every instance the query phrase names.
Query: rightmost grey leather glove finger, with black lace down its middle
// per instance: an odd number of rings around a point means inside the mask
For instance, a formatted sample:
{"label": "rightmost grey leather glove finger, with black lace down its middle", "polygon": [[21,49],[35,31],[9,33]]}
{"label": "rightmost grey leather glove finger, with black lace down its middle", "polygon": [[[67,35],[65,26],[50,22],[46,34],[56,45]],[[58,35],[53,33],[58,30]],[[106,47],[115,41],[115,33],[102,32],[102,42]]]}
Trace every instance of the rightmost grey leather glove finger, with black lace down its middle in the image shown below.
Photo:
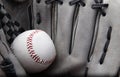
{"label": "rightmost grey leather glove finger, with black lace down its middle", "polygon": [[[91,61],[88,64],[88,75],[115,76],[119,72],[119,13],[120,1],[107,1],[109,4],[106,16],[101,16],[97,42]],[[116,11],[116,12],[114,12]],[[116,20],[114,20],[116,19]]]}

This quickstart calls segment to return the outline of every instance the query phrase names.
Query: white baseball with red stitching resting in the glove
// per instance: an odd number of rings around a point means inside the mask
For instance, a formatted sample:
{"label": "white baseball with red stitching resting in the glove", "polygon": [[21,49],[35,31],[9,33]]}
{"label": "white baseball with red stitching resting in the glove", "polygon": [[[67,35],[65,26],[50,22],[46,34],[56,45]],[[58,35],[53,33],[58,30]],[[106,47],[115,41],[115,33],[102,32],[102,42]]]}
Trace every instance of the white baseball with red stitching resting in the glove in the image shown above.
{"label": "white baseball with red stitching resting in the glove", "polygon": [[11,48],[28,73],[45,70],[56,56],[53,41],[42,30],[28,30],[21,33],[15,38]]}

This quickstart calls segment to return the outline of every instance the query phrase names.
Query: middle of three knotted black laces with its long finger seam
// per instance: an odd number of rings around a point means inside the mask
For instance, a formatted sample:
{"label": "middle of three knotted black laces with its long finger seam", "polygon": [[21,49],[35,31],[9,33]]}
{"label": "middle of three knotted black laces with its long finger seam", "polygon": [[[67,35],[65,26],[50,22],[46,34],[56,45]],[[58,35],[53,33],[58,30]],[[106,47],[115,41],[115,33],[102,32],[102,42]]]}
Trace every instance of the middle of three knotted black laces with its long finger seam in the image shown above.
{"label": "middle of three knotted black laces with its long finger seam", "polygon": [[72,49],[74,46],[74,40],[75,40],[75,34],[77,29],[77,18],[79,16],[79,8],[81,6],[85,6],[85,3],[82,0],[72,0],[69,2],[69,5],[75,5],[74,14],[73,14],[73,20],[72,20],[72,28],[71,28],[71,37],[70,37],[70,46],[69,46],[69,54],[72,53]]}

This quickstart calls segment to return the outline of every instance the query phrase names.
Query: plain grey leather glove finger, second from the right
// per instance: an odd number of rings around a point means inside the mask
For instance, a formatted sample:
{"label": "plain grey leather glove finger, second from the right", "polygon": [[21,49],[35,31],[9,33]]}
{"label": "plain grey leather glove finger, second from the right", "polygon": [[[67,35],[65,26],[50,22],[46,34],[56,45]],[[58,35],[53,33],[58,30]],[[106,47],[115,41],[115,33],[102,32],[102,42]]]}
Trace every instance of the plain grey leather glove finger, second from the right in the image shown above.
{"label": "plain grey leather glove finger, second from the right", "polygon": [[[87,54],[90,49],[90,45],[92,42],[92,35],[95,26],[96,19],[96,11],[91,8],[92,4],[94,4],[94,0],[84,0],[85,6],[80,6],[78,19],[76,20],[77,26],[74,32],[73,39],[73,47],[71,56],[74,56],[78,59],[79,64],[87,63]],[[88,14],[89,13],[89,14]],[[71,71],[72,75],[83,75],[85,72],[84,67],[78,67],[77,69]]]}

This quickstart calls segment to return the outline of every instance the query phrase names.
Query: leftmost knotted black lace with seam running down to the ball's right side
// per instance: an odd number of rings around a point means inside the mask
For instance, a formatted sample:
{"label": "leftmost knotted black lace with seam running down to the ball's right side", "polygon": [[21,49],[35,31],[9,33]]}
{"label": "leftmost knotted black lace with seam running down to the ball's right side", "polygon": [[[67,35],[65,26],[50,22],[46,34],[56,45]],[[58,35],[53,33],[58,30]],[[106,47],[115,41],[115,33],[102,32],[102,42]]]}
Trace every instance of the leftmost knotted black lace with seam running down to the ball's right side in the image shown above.
{"label": "leftmost knotted black lace with seam running down to the ball's right side", "polygon": [[46,0],[46,4],[51,4],[51,38],[55,42],[57,34],[58,4],[62,5],[62,0]]}

